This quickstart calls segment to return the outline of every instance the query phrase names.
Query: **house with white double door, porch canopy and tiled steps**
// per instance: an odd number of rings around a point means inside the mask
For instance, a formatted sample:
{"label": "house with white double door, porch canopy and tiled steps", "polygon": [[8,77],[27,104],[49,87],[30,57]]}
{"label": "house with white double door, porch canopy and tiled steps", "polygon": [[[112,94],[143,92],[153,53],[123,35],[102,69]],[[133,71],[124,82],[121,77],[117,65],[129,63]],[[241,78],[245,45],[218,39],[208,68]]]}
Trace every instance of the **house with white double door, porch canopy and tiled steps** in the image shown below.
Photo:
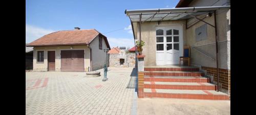
{"label": "house with white double door, porch canopy and tiled steps", "polygon": [[[176,8],[131,9],[125,14],[131,20],[134,40],[145,42],[142,55],[137,55],[139,98],[168,98],[177,92],[175,98],[182,98],[193,94],[191,89],[202,92],[195,92],[194,99],[220,99],[225,94],[230,98],[229,0],[181,0]],[[199,83],[200,88],[195,88],[197,83],[187,82],[200,81],[191,81],[191,77],[207,79],[208,84]],[[184,83],[178,86],[170,82],[180,80]],[[170,84],[175,88],[166,88]],[[201,87],[212,84],[216,86],[213,91]]]}

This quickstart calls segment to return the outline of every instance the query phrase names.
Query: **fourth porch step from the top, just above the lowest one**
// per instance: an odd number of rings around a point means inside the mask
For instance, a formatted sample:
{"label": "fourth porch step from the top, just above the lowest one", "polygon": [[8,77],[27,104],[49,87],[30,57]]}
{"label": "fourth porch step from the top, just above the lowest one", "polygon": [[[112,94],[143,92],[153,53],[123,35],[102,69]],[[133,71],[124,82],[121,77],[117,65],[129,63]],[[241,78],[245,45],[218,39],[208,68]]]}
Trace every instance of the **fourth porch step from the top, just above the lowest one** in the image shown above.
{"label": "fourth porch step from the top, just above the lowest one", "polygon": [[181,90],[216,90],[217,87],[216,85],[211,83],[144,81],[144,88],[181,89]]}

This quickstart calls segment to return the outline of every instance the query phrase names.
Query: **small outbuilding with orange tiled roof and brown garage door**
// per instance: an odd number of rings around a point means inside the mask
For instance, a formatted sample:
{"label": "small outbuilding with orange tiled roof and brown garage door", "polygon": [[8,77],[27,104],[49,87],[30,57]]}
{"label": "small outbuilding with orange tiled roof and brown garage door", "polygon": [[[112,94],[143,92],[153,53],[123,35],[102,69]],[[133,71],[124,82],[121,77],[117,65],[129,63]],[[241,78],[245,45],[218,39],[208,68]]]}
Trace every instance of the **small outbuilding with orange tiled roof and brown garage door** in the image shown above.
{"label": "small outbuilding with orange tiled roof and brown garage door", "polygon": [[107,63],[108,39],[95,29],[57,31],[29,43],[33,71],[88,72]]}

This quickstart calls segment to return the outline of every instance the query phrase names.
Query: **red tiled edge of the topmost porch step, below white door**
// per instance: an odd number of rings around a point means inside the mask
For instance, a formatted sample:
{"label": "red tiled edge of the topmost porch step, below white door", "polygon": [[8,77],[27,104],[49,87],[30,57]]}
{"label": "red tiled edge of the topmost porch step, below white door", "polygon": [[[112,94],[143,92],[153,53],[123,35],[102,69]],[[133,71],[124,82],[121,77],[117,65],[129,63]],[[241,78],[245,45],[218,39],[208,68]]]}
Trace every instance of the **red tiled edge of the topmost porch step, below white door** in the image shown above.
{"label": "red tiled edge of the topmost porch step, below white door", "polygon": [[144,68],[144,71],[199,71],[199,68]]}

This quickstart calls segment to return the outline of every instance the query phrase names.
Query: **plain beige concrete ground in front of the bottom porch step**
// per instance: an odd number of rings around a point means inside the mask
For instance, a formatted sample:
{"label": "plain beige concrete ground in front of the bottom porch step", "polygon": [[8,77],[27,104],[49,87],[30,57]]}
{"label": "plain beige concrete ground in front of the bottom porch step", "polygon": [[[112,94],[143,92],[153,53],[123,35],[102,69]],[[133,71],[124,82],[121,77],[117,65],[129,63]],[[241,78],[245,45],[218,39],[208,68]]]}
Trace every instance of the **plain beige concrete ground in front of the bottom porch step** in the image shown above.
{"label": "plain beige concrete ground in front of the bottom porch step", "polygon": [[230,101],[196,100],[196,99],[138,99],[138,115],[228,115]]}

